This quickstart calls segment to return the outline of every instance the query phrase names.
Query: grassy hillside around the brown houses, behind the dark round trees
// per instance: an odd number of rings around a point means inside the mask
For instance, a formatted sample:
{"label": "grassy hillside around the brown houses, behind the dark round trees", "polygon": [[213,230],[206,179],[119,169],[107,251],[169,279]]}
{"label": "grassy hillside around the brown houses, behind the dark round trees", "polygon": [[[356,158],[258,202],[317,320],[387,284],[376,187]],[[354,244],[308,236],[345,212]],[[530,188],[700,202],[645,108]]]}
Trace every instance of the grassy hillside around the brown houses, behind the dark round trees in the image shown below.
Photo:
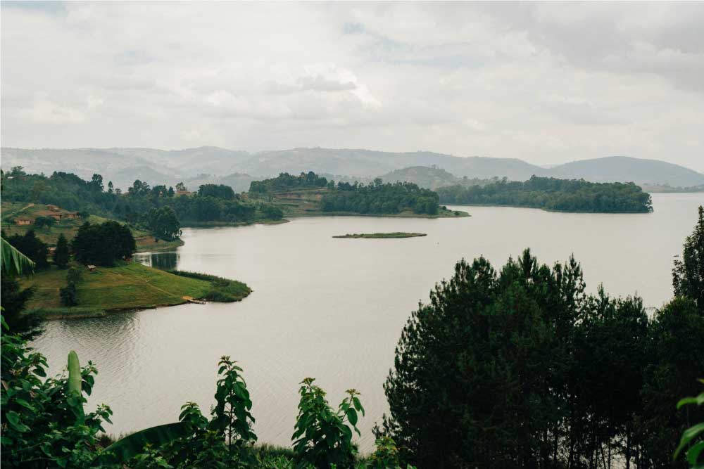
{"label": "grassy hillside around the brown houses, behind the dark round trees", "polygon": [[[50,246],[56,245],[56,240],[60,234],[63,234],[66,239],[71,240],[77,233],[80,226],[86,221],[82,219],[56,221],[54,226],[51,226],[51,228],[44,227],[39,229],[34,225],[18,226],[14,223],[6,223],[5,220],[15,217],[35,219],[39,215],[49,212],[49,208],[47,208],[46,205],[30,204],[25,202],[3,202],[1,204],[1,208],[2,229],[5,230],[8,236],[13,236],[15,234],[23,235],[30,229],[34,229],[34,233],[37,233],[37,238]],[[103,223],[104,221],[108,221],[108,219],[91,215],[87,221],[90,223]],[[134,235],[134,240],[137,241],[137,252],[170,249],[183,245],[183,241],[181,240],[170,242],[160,240],[158,243],[155,243],[153,236],[150,236],[146,231],[139,229],[132,228],[132,234]]]}

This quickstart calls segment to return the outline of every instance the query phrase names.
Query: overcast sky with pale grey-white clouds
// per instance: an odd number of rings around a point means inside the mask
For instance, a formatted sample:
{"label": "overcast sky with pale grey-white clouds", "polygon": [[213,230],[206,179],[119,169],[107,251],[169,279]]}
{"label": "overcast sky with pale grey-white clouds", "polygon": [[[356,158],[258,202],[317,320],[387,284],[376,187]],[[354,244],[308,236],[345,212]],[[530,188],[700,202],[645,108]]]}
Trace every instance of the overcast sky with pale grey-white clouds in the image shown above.
{"label": "overcast sky with pale grey-white clouds", "polygon": [[2,2],[3,146],[608,155],[704,172],[704,3]]}

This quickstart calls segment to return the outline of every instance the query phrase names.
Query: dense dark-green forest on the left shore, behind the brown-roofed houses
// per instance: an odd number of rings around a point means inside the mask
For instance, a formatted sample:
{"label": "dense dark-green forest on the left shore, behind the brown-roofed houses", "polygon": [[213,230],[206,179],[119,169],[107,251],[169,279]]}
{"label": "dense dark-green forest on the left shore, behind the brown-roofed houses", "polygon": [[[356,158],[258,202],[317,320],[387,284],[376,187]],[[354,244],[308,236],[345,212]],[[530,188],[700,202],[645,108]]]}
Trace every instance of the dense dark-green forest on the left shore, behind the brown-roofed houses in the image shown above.
{"label": "dense dark-green forest on the left shore, behind the brown-roofed houses", "polygon": [[[180,226],[188,224],[249,223],[282,217],[277,207],[252,203],[235,194],[230,186],[215,184],[204,184],[196,193],[189,193],[182,183],[177,184],[175,191],[137,179],[123,193],[113,188],[110,181],[104,186],[100,174],[84,181],[64,172],[54,172],[51,176],[27,174],[20,167],[4,172],[1,184],[4,200],[53,204],[66,210],[101,214],[144,226],[167,240],[179,236]],[[165,207],[172,212],[163,210]]]}

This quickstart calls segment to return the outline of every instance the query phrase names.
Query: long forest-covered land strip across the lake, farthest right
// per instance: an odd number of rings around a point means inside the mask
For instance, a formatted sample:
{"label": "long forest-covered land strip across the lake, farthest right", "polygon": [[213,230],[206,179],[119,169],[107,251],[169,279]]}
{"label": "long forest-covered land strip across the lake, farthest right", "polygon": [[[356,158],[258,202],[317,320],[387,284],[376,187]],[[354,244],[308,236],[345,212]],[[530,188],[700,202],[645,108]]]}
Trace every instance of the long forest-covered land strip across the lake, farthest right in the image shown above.
{"label": "long forest-covered land strip across the lake, farthest right", "polygon": [[446,186],[440,203],[512,205],[561,212],[651,212],[650,195],[633,183],[593,183],[582,179],[532,176],[524,182],[495,181],[484,186]]}

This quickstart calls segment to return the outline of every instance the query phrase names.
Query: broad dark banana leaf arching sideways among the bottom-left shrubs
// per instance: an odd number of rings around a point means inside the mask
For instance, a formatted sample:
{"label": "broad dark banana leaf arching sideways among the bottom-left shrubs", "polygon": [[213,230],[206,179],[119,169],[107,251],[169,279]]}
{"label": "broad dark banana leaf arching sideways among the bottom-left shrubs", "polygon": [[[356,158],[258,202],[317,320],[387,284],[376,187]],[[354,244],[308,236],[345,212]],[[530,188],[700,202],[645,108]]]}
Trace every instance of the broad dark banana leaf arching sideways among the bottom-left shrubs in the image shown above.
{"label": "broad dark banana leaf arching sideways among the bottom-left shrubs", "polygon": [[144,451],[146,444],[157,447],[190,434],[184,422],[167,423],[132,433],[108,446],[96,459],[97,464],[123,464]]}

